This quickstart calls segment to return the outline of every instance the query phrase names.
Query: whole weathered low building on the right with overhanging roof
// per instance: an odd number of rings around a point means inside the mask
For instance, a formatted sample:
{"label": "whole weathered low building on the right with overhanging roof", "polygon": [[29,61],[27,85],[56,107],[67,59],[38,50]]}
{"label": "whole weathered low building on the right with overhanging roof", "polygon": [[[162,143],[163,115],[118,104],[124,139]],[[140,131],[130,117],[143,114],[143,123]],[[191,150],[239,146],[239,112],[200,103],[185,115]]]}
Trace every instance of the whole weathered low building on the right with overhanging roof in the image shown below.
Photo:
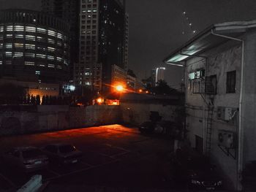
{"label": "whole weathered low building on the right with overhanging roof", "polygon": [[238,191],[255,191],[246,172],[256,161],[255,26],[256,20],[213,25],[165,58],[185,68],[187,139]]}

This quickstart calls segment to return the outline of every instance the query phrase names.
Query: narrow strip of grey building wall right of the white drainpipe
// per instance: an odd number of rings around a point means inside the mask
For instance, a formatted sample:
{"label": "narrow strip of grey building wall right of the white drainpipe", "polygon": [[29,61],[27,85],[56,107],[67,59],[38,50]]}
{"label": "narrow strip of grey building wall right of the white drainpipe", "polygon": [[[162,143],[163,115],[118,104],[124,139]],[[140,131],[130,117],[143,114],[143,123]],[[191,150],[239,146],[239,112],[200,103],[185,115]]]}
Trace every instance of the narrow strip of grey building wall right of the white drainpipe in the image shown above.
{"label": "narrow strip of grey building wall right of the white drainpipe", "polygon": [[241,122],[244,131],[244,164],[256,160],[256,30],[246,33]]}

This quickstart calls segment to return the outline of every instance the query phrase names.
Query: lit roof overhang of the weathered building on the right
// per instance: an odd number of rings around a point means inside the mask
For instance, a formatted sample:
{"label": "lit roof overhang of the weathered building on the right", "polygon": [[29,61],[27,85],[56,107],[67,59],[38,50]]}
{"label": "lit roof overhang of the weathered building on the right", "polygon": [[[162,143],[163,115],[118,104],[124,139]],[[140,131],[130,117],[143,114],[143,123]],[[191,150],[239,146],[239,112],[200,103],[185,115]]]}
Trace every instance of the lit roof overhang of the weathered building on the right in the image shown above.
{"label": "lit roof overhang of the weathered building on the right", "polygon": [[256,28],[256,20],[220,23],[206,28],[204,31],[190,39],[185,45],[179,47],[165,58],[165,64],[184,66],[184,61],[192,57],[200,57],[201,53],[217,47],[228,39],[214,34],[222,34],[229,37],[239,37],[247,28]]}

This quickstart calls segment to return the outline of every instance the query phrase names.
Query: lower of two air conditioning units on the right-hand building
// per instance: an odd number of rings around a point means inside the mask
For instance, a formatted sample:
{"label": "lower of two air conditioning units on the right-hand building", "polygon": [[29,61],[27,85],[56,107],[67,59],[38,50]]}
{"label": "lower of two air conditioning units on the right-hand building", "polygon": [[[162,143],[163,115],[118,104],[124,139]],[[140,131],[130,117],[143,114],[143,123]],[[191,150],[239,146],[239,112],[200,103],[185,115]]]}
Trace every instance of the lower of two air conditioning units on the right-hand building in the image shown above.
{"label": "lower of two air conditioning units on the right-hand building", "polygon": [[235,147],[235,133],[232,131],[219,130],[218,145],[226,148]]}

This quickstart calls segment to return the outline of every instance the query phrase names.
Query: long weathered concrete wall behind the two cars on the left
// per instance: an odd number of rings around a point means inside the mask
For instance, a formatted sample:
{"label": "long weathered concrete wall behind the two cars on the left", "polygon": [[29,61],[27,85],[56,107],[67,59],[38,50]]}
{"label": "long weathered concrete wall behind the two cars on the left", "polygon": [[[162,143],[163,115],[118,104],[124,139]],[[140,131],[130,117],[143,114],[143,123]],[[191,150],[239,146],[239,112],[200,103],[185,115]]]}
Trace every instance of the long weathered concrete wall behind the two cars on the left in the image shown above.
{"label": "long weathered concrete wall behind the two cars on the left", "polygon": [[0,110],[0,135],[64,130],[119,123],[119,106],[28,106]]}

